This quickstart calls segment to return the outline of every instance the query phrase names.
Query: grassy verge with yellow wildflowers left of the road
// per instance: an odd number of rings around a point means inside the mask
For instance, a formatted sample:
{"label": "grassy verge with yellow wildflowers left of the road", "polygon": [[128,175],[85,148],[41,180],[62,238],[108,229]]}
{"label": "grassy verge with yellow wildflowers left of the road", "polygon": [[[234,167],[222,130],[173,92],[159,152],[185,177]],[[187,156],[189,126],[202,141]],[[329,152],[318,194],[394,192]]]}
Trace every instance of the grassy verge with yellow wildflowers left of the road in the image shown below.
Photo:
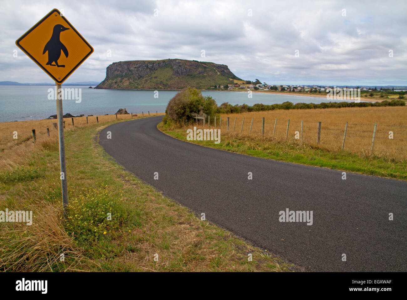
{"label": "grassy verge with yellow wildflowers left of the road", "polygon": [[0,223],[2,271],[288,270],[280,259],[201,221],[110,160],[94,138],[105,126],[66,132],[70,208],[64,225],[55,138],[12,171],[0,172],[0,210],[34,214],[31,226]]}

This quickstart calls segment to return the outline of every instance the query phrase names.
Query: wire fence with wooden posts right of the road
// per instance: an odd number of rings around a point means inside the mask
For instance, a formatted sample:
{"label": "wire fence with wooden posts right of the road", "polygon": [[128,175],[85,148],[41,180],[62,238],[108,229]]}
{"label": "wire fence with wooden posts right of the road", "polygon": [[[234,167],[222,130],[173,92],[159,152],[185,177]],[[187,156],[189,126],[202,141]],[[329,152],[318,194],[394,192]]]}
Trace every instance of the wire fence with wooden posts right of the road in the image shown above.
{"label": "wire fence with wooden posts right of the road", "polygon": [[[209,121],[209,122],[208,122]],[[216,122],[216,125],[215,125]],[[203,120],[197,120],[203,126]],[[278,118],[206,118],[205,126],[221,133],[263,136],[287,142],[318,145],[320,148],[351,153],[375,154],[406,160],[407,126],[354,124]]]}

